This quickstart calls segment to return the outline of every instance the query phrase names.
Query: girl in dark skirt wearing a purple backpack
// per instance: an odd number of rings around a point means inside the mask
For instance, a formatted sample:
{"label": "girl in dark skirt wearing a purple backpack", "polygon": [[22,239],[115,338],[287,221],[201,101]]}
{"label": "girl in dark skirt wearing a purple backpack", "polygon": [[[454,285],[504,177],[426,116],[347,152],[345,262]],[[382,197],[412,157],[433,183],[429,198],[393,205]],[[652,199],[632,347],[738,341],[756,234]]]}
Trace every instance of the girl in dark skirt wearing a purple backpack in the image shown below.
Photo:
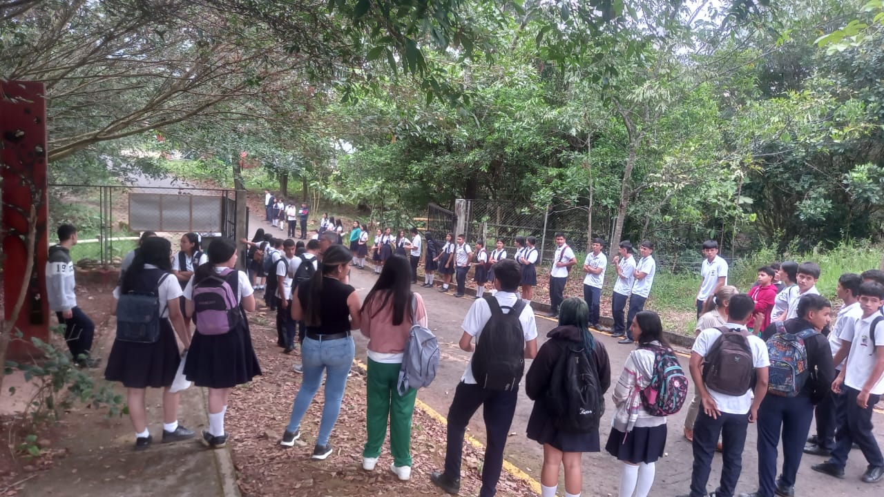
{"label": "girl in dark skirt wearing a purple backpack", "polygon": [[[231,389],[260,375],[261,367],[246,317],[246,312],[255,310],[255,290],[246,273],[233,269],[236,245],[217,238],[207,252],[209,263],[197,268],[184,289],[187,315],[196,323],[184,374],[195,386],[209,388],[209,430],[202,431],[202,442],[220,448],[227,443],[224,417]],[[207,298],[198,298],[203,292]],[[232,302],[225,302],[225,309],[217,309],[212,305],[217,301],[212,298],[214,294],[226,294],[225,301],[232,297]],[[217,319],[222,313],[225,317]]]}

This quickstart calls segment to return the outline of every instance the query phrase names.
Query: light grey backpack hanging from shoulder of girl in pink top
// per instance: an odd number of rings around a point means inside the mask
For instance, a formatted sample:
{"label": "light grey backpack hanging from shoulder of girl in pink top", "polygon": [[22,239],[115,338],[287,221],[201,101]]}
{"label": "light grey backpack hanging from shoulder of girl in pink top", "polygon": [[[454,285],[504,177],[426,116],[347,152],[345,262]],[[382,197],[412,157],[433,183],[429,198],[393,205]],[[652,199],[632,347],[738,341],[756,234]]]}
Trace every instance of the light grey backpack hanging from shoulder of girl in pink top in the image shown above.
{"label": "light grey backpack hanging from shoulder of girl in pink top", "polygon": [[411,295],[411,331],[408,332],[408,342],[405,344],[405,355],[402,357],[402,367],[399,370],[399,381],[396,383],[396,391],[405,395],[409,388],[430,386],[436,378],[436,370],[439,365],[439,343],[430,330],[417,323],[416,310],[417,297]]}

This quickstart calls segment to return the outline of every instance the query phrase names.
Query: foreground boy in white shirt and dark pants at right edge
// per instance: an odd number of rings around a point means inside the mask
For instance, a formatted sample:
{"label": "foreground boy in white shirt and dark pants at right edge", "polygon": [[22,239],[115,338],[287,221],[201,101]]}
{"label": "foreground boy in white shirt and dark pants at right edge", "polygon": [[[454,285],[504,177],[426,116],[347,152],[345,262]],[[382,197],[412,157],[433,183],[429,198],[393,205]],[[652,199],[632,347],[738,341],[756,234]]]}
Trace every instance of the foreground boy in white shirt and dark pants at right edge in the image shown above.
{"label": "foreground boy in white shirt and dark pants at right edge", "polygon": [[834,449],[826,463],[812,466],[812,470],[844,478],[844,466],[850,447],[856,443],[869,464],[863,474],[865,483],[884,479],[884,457],[878,440],[872,432],[874,405],[884,394],[884,319],[880,317],[884,302],[884,287],[875,282],[859,286],[859,308],[863,314],[850,322],[841,333],[842,347],[834,357],[839,362],[847,356],[846,364],[832,382],[835,394],[845,395],[847,416],[839,420],[834,433]]}

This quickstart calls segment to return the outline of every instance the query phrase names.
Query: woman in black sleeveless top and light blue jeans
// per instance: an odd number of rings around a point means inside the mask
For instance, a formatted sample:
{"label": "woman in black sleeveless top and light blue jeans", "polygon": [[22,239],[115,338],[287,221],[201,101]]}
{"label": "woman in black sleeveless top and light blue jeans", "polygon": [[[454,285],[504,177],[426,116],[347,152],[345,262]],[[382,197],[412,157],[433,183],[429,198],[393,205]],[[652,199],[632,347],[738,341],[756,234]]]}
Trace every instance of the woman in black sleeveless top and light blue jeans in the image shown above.
{"label": "woman in black sleeveless top and light blue jeans", "polygon": [[[353,253],[342,245],[331,245],[322,255],[319,271],[302,282],[292,295],[292,318],[304,321],[301,343],[304,379],[292,405],[286,432],[280,445],[293,447],[301,438],[301,420],[325,376],[323,417],[316,434],[313,459],[331,455],[331,430],[338,422],[340,402],[347,387],[356,348],[351,331],[360,328],[359,295],[349,285]],[[325,373],[325,374],[323,374]]]}

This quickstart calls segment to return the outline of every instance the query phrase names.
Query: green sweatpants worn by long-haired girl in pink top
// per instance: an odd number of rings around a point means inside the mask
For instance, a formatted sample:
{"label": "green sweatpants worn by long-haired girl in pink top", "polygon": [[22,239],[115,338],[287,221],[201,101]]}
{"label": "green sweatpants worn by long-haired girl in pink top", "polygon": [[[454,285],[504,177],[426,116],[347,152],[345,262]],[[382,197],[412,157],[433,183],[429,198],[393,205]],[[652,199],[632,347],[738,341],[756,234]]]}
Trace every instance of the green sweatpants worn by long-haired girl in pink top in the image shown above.
{"label": "green sweatpants worn by long-haired girl in pink top", "polygon": [[368,401],[365,428],[368,440],[362,450],[362,457],[381,455],[389,417],[393,463],[397,466],[411,466],[411,415],[415,412],[417,389],[408,389],[404,396],[396,392],[401,366],[399,363],[376,363],[369,359],[369,378],[365,382],[365,396]]}

